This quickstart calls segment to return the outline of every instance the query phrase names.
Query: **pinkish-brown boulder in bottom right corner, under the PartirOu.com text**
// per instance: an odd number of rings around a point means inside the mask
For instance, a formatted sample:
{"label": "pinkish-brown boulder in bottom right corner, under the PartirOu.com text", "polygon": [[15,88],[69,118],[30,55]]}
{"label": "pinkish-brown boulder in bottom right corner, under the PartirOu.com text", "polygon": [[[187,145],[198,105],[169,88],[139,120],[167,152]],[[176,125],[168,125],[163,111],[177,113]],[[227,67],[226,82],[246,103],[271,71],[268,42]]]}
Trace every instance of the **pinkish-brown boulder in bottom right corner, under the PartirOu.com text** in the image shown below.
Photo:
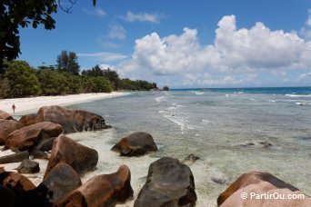
{"label": "pinkish-brown boulder in bottom right corner, under the PartirOu.com text", "polygon": [[[271,197],[265,198],[265,194]],[[304,195],[305,199],[286,199],[287,195],[297,196],[298,194],[304,193],[270,173],[250,172],[240,176],[225,192],[222,192],[217,199],[217,204],[222,207],[311,206],[311,199],[306,195]],[[264,197],[258,198],[256,195]],[[275,198],[275,195],[281,195],[283,199]]]}

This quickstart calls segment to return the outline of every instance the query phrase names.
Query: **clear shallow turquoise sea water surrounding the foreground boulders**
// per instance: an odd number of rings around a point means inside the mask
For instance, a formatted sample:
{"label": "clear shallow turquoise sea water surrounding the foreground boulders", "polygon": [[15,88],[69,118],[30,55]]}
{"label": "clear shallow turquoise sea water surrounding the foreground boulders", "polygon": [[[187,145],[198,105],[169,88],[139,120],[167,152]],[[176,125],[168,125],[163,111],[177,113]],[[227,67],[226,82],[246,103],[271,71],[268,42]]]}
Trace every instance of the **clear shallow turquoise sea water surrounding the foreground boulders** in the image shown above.
{"label": "clear shallow turquoise sea water surrounding the foreground boulders", "polygon": [[[99,153],[95,174],[129,166],[135,196],[149,164],[163,156],[183,160],[195,176],[197,206],[215,206],[216,198],[242,173],[262,171],[311,194],[311,87],[179,89],[133,92],[70,108],[101,114],[113,128],[70,134]],[[110,148],[129,133],[151,133],[159,151],[125,158]],[[271,146],[265,147],[266,143]],[[221,182],[221,183],[218,183]],[[123,206],[132,206],[133,201]]]}

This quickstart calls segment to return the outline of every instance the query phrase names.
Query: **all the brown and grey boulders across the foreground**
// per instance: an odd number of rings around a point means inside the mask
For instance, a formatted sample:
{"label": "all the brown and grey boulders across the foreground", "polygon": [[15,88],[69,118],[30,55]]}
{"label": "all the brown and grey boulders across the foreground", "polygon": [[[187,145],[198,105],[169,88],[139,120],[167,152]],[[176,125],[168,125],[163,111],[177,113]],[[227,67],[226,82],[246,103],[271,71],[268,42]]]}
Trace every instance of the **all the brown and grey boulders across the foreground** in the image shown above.
{"label": "all the brown and grey boulders across the foreground", "polygon": [[[0,163],[22,162],[17,172],[0,167],[0,206],[115,206],[133,197],[131,172],[121,165],[115,173],[96,175],[82,183],[80,175],[95,169],[98,153],[76,143],[65,133],[110,128],[102,116],[60,106],[45,106],[19,121],[0,111],[0,144],[15,154]],[[264,144],[264,143],[263,143]],[[266,146],[266,143],[265,143]],[[149,133],[132,133],[112,149],[120,156],[142,156],[157,151]],[[48,156],[46,152],[50,152]],[[22,173],[38,173],[39,164],[29,156],[48,159],[43,181],[35,186]],[[189,154],[182,162],[163,157],[149,166],[135,207],[195,206],[196,187],[188,164],[200,159]],[[233,182],[218,199],[219,206],[311,206],[311,199],[256,199],[256,194],[300,195],[294,186],[270,173],[251,172]],[[246,197],[244,197],[246,195]],[[254,195],[253,195],[254,196]]]}

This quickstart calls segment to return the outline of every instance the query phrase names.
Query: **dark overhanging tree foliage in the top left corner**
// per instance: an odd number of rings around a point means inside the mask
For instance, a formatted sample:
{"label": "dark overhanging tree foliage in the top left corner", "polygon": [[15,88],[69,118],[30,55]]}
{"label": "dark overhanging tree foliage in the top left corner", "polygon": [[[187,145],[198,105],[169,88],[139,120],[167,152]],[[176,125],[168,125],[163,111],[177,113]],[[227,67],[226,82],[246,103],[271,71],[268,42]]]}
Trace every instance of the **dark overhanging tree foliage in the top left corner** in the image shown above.
{"label": "dark overhanging tree foliage in the top left corner", "polygon": [[56,13],[55,1],[2,0],[0,4],[0,71],[3,60],[13,60],[20,53],[19,27],[45,25],[55,28],[52,14]]}

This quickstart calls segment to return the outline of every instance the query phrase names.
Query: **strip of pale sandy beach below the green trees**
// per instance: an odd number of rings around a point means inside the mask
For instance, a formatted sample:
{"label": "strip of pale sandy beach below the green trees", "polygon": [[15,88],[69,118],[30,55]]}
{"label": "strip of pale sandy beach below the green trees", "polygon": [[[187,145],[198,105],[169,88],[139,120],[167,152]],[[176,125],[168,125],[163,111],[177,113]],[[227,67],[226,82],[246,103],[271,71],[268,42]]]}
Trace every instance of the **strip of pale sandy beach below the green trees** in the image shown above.
{"label": "strip of pale sandy beach below the green trees", "polygon": [[[125,92],[112,93],[91,93],[91,94],[68,94],[55,96],[36,96],[27,98],[12,98],[0,100],[0,110],[5,111],[13,116],[22,115],[27,112],[37,111],[40,107],[45,105],[71,105],[91,102],[95,100],[114,98],[117,96],[126,95]],[[15,104],[15,113],[12,112],[12,104]]]}

